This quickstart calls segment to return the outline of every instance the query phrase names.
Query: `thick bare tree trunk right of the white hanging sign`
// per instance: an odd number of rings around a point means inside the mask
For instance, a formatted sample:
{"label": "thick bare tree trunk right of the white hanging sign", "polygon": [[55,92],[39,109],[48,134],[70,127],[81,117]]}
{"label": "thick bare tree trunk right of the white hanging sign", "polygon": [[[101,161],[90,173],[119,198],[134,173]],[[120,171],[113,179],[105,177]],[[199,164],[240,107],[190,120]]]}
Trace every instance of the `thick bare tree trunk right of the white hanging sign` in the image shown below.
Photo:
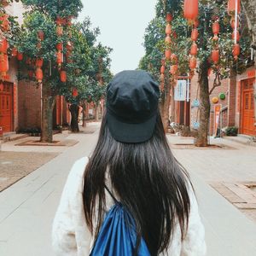
{"label": "thick bare tree trunk right of the white hanging sign", "polygon": [[210,100],[209,100],[209,82],[208,82],[208,62],[202,61],[199,73],[200,89],[200,125],[197,135],[195,136],[196,147],[207,147],[208,144],[208,127],[210,119]]}

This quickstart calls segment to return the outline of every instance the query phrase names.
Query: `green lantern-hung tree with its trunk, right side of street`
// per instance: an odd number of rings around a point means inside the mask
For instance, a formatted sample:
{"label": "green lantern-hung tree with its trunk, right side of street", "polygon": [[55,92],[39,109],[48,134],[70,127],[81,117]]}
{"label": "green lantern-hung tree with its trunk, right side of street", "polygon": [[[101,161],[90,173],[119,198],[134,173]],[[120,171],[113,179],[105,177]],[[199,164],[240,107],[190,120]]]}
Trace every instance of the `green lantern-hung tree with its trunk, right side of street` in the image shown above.
{"label": "green lantern-hung tree with its trunk, right side of street", "polygon": [[[241,55],[238,61],[234,61],[232,48],[234,40],[231,39],[232,28],[230,26],[230,16],[227,13],[227,1],[199,1],[199,38],[196,41],[198,46],[197,60],[199,65],[195,70],[199,73],[199,84],[201,84],[201,127],[199,137],[203,135],[203,139],[199,140],[200,145],[207,145],[207,127],[210,114],[209,87],[207,70],[212,67],[216,76],[215,86],[220,85],[221,79],[230,76],[230,69],[241,73],[247,67],[250,38],[248,37],[247,27],[242,24],[241,31]],[[155,77],[160,78],[160,60],[164,57],[165,44],[165,26],[166,13],[172,13],[172,52],[177,55],[178,73],[189,73],[189,49],[192,44],[190,39],[192,26],[190,26],[183,18],[183,1],[158,1],[156,4],[156,17],[152,20],[146,29],[144,36],[144,47],[146,55],[140,61],[139,67],[153,73]],[[218,20],[220,32],[218,35],[218,49],[220,58],[218,63],[212,63],[212,49],[217,47],[217,42],[212,40],[212,23]],[[241,15],[241,20],[242,15]],[[175,35],[175,36],[174,36]],[[168,73],[170,62],[166,63],[166,73]],[[172,75],[171,75],[172,79]],[[166,81],[166,87],[171,84]],[[167,107],[168,108],[168,107]],[[168,111],[167,109],[165,109]]]}

